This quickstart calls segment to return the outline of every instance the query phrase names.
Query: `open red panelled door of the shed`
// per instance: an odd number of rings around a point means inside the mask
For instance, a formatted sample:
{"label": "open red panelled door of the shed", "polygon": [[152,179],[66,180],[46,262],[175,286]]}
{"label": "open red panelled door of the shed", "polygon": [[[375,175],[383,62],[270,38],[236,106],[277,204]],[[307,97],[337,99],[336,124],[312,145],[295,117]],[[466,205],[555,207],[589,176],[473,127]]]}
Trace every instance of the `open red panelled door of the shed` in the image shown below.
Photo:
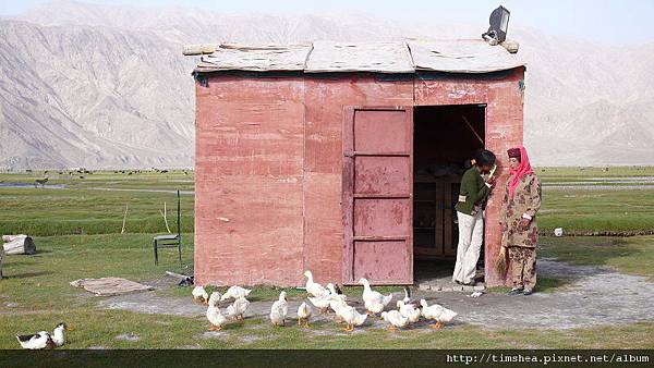
{"label": "open red panelled door of the shed", "polygon": [[413,108],[346,108],[343,280],[413,283]]}

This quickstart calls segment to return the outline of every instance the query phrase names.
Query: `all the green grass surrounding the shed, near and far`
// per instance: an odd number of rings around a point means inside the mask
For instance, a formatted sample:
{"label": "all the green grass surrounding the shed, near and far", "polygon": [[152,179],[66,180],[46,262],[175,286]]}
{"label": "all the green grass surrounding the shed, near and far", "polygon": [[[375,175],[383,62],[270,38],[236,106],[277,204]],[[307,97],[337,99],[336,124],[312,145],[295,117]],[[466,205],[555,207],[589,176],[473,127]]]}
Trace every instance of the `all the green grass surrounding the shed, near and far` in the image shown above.
{"label": "all the green grass surrounding the shed, near and far", "polygon": [[[577,171],[576,171],[577,170]],[[597,172],[595,172],[597,171]],[[579,181],[598,175],[654,175],[654,168],[546,169],[538,172],[544,182],[564,179]],[[317,335],[316,330],[267,324],[254,329],[257,320],[245,326],[230,326],[223,339],[198,339],[206,331],[202,319],[144,315],[105,310],[97,298],[73,289],[70,281],[80,278],[117,275],[149,282],[160,280],[165,270],[192,272],[193,196],[182,196],[182,228],[185,240],[183,265],[172,249],[164,252],[160,266],[153,263],[153,233],[166,231],[164,203],[167,204],[171,230],[175,225],[174,191],[193,191],[193,174],[96,172],[84,179],[52,175],[48,184],[64,188],[0,186],[0,233],[28,233],[35,236],[39,253],[10,256],[5,261],[7,279],[0,281],[0,348],[15,348],[14,333],[36,332],[59,321],[76,327],[65,348],[160,348],[160,347],[235,347],[235,348],[558,348],[558,347],[651,347],[654,323],[585,328],[576,330],[487,330],[456,326],[438,333],[389,334],[372,329],[354,336]],[[0,184],[32,183],[43,173],[0,174]],[[121,189],[121,191],[116,191]],[[152,192],[152,191],[160,192]],[[121,234],[125,204],[129,204],[126,232]],[[538,219],[545,230],[564,226],[567,231],[616,232],[647,231],[654,223],[652,189],[585,191],[581,188],[544,188],[543,211]],[[542,237],[541,255],[571,263],[602,265],[619,271],[654,278],[652,237]],[[606,246],[610,244],[611,246]],[[556,279],[541,280],[545,289],[561,286]],[[255,299],[272,299],[278,290],[259,287]],[[189,289],[164,287],[161,295],[189,295]],[[301,292],[290,291],[291,297]],[[117,340],[135,333],[140,341]]]}

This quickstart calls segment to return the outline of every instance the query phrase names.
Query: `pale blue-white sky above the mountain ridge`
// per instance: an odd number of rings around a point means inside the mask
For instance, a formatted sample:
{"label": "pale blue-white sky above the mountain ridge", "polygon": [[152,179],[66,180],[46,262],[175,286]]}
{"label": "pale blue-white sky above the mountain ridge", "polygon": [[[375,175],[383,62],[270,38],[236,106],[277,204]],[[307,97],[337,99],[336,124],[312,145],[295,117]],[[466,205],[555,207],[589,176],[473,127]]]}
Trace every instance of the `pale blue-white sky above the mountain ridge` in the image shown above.
{"label": "pale blue-white sky above the mountain ridge", "polygon": [[[358,11],[398,20],[444,21],[487,24],[488,14],[499,4],[511,12],[511,24],[530,26],[547,34],[597,44],[632,45],[654,41],[654,0],[84,0],[104,4],[149,8],[189,7],[226,13],[323,13]],[[12,15],[50,1],[0,0],[0,15]]]}

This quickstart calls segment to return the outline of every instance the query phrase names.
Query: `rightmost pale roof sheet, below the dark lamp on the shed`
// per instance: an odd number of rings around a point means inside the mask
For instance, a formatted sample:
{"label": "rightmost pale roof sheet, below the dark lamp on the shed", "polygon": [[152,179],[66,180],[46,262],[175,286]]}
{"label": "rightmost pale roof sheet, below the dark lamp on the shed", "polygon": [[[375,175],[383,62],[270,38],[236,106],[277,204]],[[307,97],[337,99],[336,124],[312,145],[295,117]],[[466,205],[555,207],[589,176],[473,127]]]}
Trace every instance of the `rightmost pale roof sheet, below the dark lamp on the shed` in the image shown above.
{"label": "rightmost pale roof sheet, below the dark lamp on the shed", "polygon": [[488,73],[524,65],[518,54],[484,40],[408,40],[415,70]]}

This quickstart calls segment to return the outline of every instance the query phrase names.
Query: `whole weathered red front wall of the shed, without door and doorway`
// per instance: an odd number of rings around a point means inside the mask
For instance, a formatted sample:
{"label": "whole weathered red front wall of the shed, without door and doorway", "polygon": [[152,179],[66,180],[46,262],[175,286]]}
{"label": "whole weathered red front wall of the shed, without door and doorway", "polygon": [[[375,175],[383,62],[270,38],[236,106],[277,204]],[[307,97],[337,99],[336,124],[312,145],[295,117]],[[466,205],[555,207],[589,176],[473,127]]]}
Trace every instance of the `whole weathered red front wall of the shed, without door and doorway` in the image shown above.
{"label": "whole weathered red front wall of the shed, without door and doorway", "polygon": [[[371,74],[261,77],[209,74],[196,85],[195,277],[201,284],[342,281],[342,125],[346,106],[485,103],[486,147],[522,143],[523,70],[492,75]],[[499,191],[498,191],[499,192]],[[491,198],[486,278],[499,246]],[[365,267],[365,265],[361,266]]]}

